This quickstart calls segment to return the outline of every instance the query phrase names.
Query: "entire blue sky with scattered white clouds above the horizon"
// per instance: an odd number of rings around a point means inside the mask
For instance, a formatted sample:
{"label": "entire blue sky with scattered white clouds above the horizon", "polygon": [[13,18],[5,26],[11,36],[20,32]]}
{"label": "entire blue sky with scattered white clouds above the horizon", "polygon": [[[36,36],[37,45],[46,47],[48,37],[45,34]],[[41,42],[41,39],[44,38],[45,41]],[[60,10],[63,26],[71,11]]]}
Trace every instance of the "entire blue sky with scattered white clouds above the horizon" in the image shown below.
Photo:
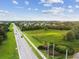
{"label": "entire blue sky with scattered white clouds above the horizon", "polygon": [[79,21],[79,0],[0,0],[0,21]]}

